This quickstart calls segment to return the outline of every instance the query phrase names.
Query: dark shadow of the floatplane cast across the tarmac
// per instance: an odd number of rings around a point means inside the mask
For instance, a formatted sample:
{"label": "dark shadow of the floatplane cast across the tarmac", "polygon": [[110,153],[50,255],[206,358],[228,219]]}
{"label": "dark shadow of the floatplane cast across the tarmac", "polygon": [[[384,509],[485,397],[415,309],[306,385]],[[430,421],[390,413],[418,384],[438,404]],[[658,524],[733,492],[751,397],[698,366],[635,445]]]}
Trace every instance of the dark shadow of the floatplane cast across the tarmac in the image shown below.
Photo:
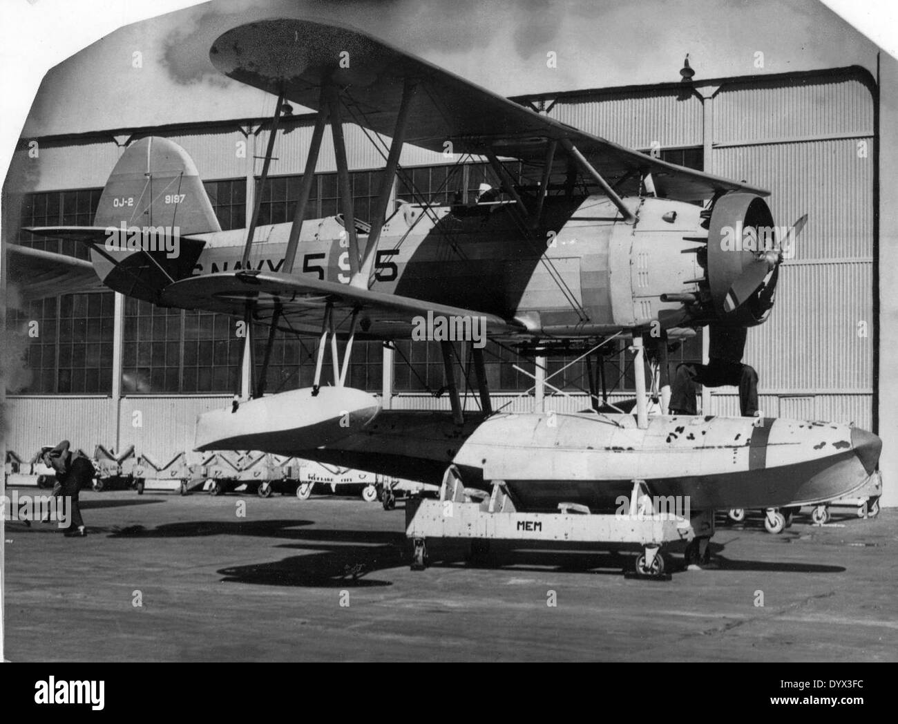
{"label": "dark shadow of the floatplane cast across the tarmac", "polygon": [[[192,538],[236,535],[274,538],[284,541],[278,548],[296,549],[304,555],[280,561],[252,563],[218,569],[224,581],[282,587],[376,587],[392,586],[392,581],[372,578],[385,569],[409,565],[410,543],[405,534],[392,531],[309,528],[310,520],[190,521],[153,528],[133,525],[111,529],[110,538]],[[732,543],[732,541],[730,541]],[[592,573],[620,576],[633,566],[633,549],[609,551],[607,546],[559,543],[493,543],[487,557],[469,561],[466,541],[443,540],[430,546],[428,566],[435,569],[460,567],[514,569],[515,571]],[[783,573],[841,573],[841,566],[794,561],[747,561],[728,559],[725,543],[711,543],[712,568],[735,571]],[[669,549],[674,570],[682,569],[682,544]],[[421,574],[426,575],[426,574]]]}

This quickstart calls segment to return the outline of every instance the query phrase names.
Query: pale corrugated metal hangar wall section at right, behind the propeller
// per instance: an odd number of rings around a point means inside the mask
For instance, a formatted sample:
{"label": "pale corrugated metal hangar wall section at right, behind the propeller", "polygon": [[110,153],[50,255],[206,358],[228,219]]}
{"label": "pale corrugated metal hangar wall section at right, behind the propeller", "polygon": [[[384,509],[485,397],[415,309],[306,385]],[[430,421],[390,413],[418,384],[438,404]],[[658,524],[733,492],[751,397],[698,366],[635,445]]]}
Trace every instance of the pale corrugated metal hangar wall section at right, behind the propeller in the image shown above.
{"label": "pale corrugated metal hangar wall section at right, behind the propeller", "polygon": [[745,361],[762,390],[784,395],[780,415],[809,412],[871,428],[875,161],[867,85],[852,75],[724,84],[713,133],[712,172],[770,189],[778,225],[808,215],[794,260],[781,268],[770,320],[749,333]]}

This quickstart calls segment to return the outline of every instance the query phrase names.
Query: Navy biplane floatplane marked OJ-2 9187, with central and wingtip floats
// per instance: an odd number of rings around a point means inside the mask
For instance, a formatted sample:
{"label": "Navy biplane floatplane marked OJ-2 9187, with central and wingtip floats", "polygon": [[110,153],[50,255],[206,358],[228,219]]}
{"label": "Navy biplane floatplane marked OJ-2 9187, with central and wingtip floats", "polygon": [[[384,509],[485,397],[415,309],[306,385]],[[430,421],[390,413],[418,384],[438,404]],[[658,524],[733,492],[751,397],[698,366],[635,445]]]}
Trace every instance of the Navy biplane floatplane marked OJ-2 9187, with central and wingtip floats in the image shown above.
{"label": "Navy biplane floatplane marked OJ-2 9187, with central and wingtip floats", "polygon": [[[654,344],[662,377],[668,339],[764,322],[781,239],[760,250],[719,240],[732,229],[772,227],[768,192],[592,136],[359,31],[254,22],[225,32],[210,57],[225,75],[277,96],[262,181],[283,103],[317,111],[292,224],[257,225],[257,194],[248,232],[220,231],[194,164],[154,137],[121,156],[92,227],[31,229],[90,244],[103,284],[128,296],[230,314],[269,325],[272,336],[319,338],[312,387],[264,395],[263,360],[252,399],[199,417],[197,449],[301,455],[437,484],[451,471],[487,490],[504,481],[519,510],[559,501],[606,509],[634,480],[653,494],[688,496],[692,510],[800,505],[856,489],[875,470],[881,441],[849,425],[647,416],[643,375],[635,415],[494,412],[477,345],[480,410],[466,413],[449,340],[452,412],[382,410],[374,395],[345,384],[353,340],[409,339],[428,315],[462,331],[476,319],[490,340],[544,354],[560,341],[595,352],[624,336],[640,365]],[[368,223],[353,221],[349,121],[374,141],[392,139],[383,143]],[[328,125],[342,214],[304,220]],[[446,141],[486,159],[501,194],[467,206],[390,208],[403,144],[443,151]],[[538,169],[539,182],[515,180],[507,160]],[[178,253],[106,243],[110,229],[132,226],[179,227]],[[238,258],[239,269],[213,271]],[[334,384],[323,386],[329,351]]]}

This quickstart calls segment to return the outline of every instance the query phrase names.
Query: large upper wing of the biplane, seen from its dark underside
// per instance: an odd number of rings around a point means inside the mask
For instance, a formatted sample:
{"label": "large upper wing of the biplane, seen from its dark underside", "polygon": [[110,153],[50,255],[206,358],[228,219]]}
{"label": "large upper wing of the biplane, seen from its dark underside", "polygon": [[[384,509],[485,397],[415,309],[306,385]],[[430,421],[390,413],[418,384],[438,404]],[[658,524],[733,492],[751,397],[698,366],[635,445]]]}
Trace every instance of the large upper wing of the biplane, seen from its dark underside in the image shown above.
{"label": "large upper wing of the biplane, seen from its dark underside", "polygon": [[302,20],[252,22],[225,32],[209,56],[225,75],[275,95],[283,87],[287,99],[315,110],[321,83],[330,78],[350,110],[346,120],[386,136],[395,128],[404,84],[413,82],[417,93],[404,140],[432,151],[444,151],[451,141],[455,153],[482,155],[491,148],[497,155],[543,163],[547,144],[567,139],[612,187],[651,173],[656,192],[670,199],[709,199],[734,190],[769,195],[541,116],[360,31]]}

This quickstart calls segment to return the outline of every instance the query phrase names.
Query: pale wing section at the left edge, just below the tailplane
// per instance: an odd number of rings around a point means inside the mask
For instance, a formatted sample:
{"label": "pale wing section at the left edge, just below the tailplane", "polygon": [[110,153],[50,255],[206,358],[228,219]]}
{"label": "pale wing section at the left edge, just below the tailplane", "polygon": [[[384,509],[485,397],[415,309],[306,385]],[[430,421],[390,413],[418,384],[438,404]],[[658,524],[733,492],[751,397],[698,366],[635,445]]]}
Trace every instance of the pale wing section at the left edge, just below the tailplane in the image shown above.
{"label": "pale wing section at the left edge, just below the tailplane", "polygon": [[22,301],[106,288],[90,261],[14,243],[6,249],[9,252],[9,283],[16,285]]}

